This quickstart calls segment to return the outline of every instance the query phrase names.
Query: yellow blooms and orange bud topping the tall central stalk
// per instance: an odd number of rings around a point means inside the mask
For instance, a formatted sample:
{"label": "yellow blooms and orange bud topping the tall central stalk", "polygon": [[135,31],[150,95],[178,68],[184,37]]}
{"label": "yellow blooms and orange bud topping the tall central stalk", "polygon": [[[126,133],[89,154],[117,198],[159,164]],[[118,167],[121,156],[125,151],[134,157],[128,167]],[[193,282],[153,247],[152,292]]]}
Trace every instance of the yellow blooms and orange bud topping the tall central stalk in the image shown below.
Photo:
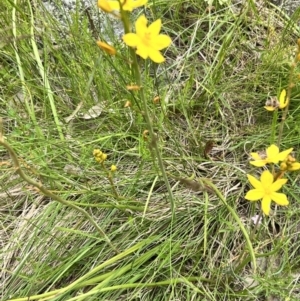
{"label": "yellow blooms and orange bud topping the tall central stalk", "polygon": [[[147,4],[148,0],[98,0],[98,7],[106,13],[114,13],[120,10],[131,12],[137,7]],[[163,63],[165,58],[160,50],[167,48],[172,43],[167,35],[160,34],[161,20],[158,19],[147,26],[148,20],[141,15],[135,22],[136,33],[126,33],[123,36],[124,43],[136,49],[136,54],[147,59],[148,57],[155,63]],[[116,50],[111,45],[103,41],[98,41],[97,45],[109,55],[116,54]]]}

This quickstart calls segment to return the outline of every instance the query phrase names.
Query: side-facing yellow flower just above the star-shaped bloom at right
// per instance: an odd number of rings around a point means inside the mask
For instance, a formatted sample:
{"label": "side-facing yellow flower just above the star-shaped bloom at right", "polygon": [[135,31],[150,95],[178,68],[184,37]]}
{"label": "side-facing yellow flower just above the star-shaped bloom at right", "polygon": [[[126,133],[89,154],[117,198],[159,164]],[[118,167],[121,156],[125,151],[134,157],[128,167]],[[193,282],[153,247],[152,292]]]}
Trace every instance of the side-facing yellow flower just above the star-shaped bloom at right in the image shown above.
{"label": "side-facing yellow flower just above the star-shaped bloom at right", "polygon": [[272,144],[266,149],[266,153],[263,155],[259,153],[251,153],[251,157],[255,161],[250,161],[250,164],[256,167],[262,167],[268,163],[277,164],[279,161],[286,160],[292,150],[293,148],[289,148],[285,151],[279,152],[279,148],[275,144]]}

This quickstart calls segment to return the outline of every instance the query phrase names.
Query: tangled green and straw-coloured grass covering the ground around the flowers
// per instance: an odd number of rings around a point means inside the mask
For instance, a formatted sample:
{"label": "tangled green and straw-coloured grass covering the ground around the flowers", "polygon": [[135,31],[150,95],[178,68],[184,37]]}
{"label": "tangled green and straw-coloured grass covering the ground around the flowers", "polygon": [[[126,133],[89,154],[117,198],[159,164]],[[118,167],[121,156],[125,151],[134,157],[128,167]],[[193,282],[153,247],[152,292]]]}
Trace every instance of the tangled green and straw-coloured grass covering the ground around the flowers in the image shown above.
{"label": "tangled green and straw-coloured grass covering the ground around the flowers", "polygon": [[[139,60],[173,218],[143,138],[139,96],[126,89],[132,77],[121,39],[111,28],[92,32],[79,13],[62,28],[34,3],[0,4],[3,135],[22,170],[65,203],[22,180],[0,148],[1,300],[299,300],[298,173],[284,188],[290,205],[264,217],[257,231],[251,217],[260,202],[244,199],[246,174],[258,175],[249,153],[277,142],[280,118],[274,122],[263,106],[288,85],[299,10],[287,17],[250,0],[210,13],[202,1],[150,1],[145,9],[151,21],[162,18],[173,41],[166,63]],[[121,56],[103,54],[95,34]],[[296,158],[299,95],[297,83],[281,143]],[[124,108],[127,100],[132,108]],[[84,119],[96,104],[101,114]],[[107,167],[118,166],[119,197],[95,148],[108,154]],[[227,206],[214,191],[179,181],[192,175],[210,179]]]}

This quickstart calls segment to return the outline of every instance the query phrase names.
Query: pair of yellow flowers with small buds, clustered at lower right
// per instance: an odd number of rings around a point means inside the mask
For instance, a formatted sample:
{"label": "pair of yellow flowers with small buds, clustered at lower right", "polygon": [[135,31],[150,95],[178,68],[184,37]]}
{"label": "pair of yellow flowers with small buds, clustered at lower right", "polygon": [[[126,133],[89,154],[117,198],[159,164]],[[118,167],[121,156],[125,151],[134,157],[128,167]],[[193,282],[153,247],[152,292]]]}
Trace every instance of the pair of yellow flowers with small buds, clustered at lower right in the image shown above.
{"label": "pair of yellow flowers with small buds, clustered at lower right", "polygon": [[252,175],[247,175],[250,184],[254,187],[247,192],[245,199],[249,201],[262,200],[261,207],[264,214],[270,214],[271,201],[274,201],[277,205],[287,206],[289,201],[284,193],[278,193],[277,191],[286,184],[287,179],[283,179],[282,176],[286,171],[294,171],[300,169],[300,163],[296,162],[296,159],[291,155],[293,148],[289,148],[280,152],[279,148],[272,144],[264,152],[251,153],[251,157],[254,161],[250,163],[256,167],[263,167],[267,164],[280,164],[280,169],[277,173],[273,174],[269,170],[263,171],[260,177],[260,181]]}

